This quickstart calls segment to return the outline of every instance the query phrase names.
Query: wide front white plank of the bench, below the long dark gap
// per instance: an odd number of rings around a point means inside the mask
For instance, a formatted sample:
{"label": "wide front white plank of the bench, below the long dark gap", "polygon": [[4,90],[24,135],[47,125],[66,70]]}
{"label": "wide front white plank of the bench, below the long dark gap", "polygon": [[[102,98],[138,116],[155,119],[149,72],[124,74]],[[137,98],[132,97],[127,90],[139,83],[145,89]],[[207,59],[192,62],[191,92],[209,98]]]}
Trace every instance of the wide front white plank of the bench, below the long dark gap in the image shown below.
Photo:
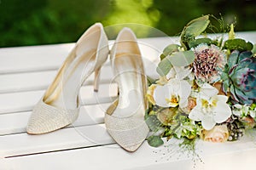
{"label": "wide front white plank of the bench, below the long dark gap", "polygon": [[[177,144],[174,144],[177,146]],[[169,151],[168,151],[169,150]],[[32,156],[19,156],[2,159],[7,170],[43,170],[43,169],[181,169],[181,170],[241,170],[252,169],[255,162],[255,144],[244,139],[240,142],[213,144],[201,142],[199,153],[201,160],[193,161],[186,153],[176,150],[170,156],[172,147],[152,148],[147,142],[134,153],[119,148],[117,144],[108,144],[79,150],[66,150]],[[157,153],[154,153],[157,152]],[[165,155],[163,155],[165,153]],[[191,156],[191,155],[190,155]]]}

